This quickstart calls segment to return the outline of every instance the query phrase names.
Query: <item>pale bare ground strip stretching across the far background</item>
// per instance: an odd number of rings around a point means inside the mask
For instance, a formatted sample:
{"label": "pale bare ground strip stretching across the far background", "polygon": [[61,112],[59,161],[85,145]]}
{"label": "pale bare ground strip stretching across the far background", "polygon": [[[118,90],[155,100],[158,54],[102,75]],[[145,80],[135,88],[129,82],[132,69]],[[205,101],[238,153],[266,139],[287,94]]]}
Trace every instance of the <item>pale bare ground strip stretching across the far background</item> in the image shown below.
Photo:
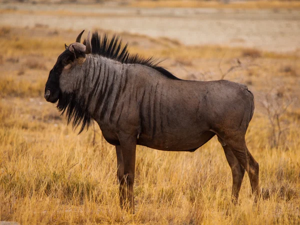
{"label": "pale bare ground strip stretching across the far background", "polygon": [[168,37],[183,44],[220,44],[299,51],[300,13],[294,9],[136,8],[102,5],[0,5],[0,25],[110,29]]}

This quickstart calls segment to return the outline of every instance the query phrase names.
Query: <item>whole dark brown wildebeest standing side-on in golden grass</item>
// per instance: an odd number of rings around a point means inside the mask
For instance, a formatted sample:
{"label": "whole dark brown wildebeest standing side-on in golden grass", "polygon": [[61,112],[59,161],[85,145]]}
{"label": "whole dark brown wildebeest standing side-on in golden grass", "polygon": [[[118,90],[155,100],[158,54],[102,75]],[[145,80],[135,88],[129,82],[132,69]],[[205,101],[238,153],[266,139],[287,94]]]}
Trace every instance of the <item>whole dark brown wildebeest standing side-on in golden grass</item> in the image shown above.
{"label": "whole dark brown wildebeest standing side-on in golden grass", "polygon": [[[84,30],[83,30],[84,31]],[[232,171],[236,202],[247,171],[255,199],[258,163],[248,151],[245,133],[254,111],[248,88],[228,80],[182,80],[152,58],[129,54],[118,36],[94,32],[58,56],[49,72],[44,97],[57,102],[80,132],[94,119],[104,138],[115,145],[120,205],[134,211],[136,145],[195,151],[214,135]]]}

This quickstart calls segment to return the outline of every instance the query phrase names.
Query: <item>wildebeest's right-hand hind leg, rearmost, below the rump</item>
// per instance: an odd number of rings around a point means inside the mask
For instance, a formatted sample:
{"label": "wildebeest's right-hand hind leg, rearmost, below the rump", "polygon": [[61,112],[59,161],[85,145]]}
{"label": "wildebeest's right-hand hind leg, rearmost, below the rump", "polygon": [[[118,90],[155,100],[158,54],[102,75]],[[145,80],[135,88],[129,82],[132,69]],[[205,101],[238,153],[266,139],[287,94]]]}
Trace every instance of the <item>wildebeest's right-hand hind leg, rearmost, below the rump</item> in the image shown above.
{"label": "wildebeest's right-hand hind leg, rearmost, below the rump", "polygon": [[259,197],[259,165],[249,152],[244,135],[232,135],[232,138],[225,139],[225,143],[231,148],[234,156],[247,171],[252,193],[254,194],[254,202],[256,202]]}

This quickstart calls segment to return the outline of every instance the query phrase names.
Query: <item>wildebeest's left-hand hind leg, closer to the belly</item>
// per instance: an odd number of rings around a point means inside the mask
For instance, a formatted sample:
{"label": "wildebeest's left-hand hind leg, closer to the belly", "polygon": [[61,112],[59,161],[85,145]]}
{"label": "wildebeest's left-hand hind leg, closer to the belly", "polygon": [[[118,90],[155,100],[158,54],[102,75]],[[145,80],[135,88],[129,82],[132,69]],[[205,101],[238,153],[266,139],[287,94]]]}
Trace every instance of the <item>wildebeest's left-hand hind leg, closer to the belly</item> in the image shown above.
{"label": "wildebeest's left-hand hind leg, closer to the belly", "polygon": [[228,145],[226,145],[219,137],[218,141],[221,143],[224,153],[227,159],[227,162],[231,168],[232,172],[232,203],[236,204],[238,199],[238,194],[241,186],[241,182],[243,179],[243,176],[245,174],[244,167],[241,166],[235,155],[233,154],[232,150]]}

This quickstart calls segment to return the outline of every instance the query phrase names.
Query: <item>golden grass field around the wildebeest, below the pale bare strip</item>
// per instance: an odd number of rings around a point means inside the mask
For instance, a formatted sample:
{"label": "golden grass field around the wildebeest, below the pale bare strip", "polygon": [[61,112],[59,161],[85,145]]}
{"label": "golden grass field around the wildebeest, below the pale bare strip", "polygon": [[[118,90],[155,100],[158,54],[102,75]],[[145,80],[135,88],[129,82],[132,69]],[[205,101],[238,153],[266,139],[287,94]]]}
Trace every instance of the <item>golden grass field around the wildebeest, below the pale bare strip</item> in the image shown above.
{"label": "golden grass field around the wildebeest, below the pale bare strip", "polygon": [[[48,71],[64,42],[73,42],[77,33],[45,27],[0,29],[0,220],[21,224],[299,224],[297,53],[185,46],[168,38],[121,33],[132,52],[168,58],[162,64],[181,78],[224,76],[248,85],[255,96],[255,113],[246,141],[260,165],[262,192],[253,206],[245,175],[238,205],[229,204],[231,172],[216,138],[193,153],[138,146],[136,210],[130,214],[118,206],[114,147],[102,138],[96,124],[77,135],[78,130],[66,125],[55,105],[43,99]],[[229,71],[232,66],[236,69]]]}

